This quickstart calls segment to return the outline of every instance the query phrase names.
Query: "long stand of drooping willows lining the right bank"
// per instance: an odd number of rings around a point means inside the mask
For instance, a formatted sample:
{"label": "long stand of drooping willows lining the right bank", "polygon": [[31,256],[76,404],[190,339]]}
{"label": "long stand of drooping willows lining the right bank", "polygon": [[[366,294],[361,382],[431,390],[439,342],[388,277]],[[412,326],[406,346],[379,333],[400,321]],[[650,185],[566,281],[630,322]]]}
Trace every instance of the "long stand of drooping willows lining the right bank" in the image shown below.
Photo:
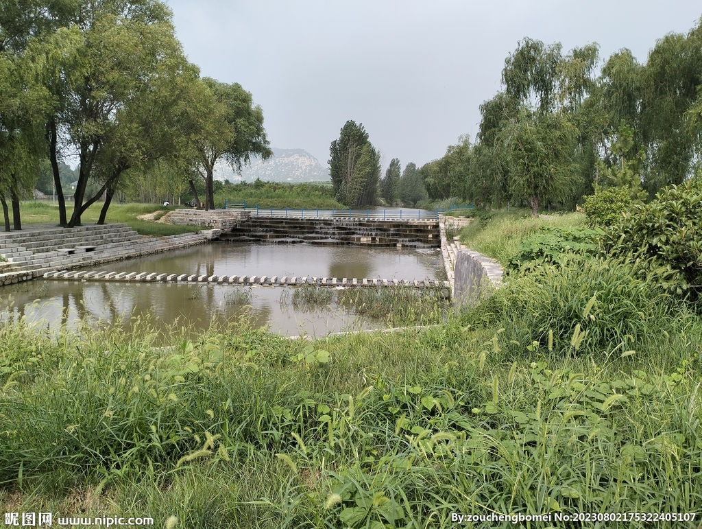
{"label": "long stand of drooping willows lining the right bank", "polygon": [[[701,20],[702,22],[702,20]],[[475,141],[419,169],[432,200],[508,201],[571,209],[619,185],[646,200],[700,171],[702,27],[667,34],[645,64],[628,49],[597,74],[596,44],[562,53],[524,39],[505,60],[502,91],[481,107]]]}

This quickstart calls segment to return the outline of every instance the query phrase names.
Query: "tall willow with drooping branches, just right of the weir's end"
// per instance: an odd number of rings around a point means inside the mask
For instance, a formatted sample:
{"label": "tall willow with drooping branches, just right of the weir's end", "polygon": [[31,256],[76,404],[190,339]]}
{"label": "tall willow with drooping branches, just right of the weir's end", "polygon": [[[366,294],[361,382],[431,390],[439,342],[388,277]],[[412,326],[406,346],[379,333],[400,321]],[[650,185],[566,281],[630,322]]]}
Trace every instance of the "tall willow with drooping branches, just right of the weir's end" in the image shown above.
{"label": "tall willow with drooping branches, just right of the weir's end", "polygon": [[560,44],[524,39],[505,60],[505,115],[496,143],[509,160],[510,192],[528,200],[538,216],[544,201],[569,200],[578,182],[579,110],[595,80],[597,46],[562,55]]}

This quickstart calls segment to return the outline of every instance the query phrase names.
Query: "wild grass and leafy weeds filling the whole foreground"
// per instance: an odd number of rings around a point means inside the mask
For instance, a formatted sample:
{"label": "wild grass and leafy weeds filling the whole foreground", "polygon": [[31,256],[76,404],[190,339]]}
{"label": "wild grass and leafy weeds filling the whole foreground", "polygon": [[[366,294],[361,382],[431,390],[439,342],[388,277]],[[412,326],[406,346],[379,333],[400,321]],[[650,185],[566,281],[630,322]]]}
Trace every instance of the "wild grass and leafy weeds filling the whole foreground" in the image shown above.
{"label": "wild grass and leafy weeds filling the whole foreground", "polygon": [[0,333],[6,511],[419,528],[454,512],[684,513],[702,500],[698,322],[624,358],[515,346],[456,318],[314,344],[176,330],[166,349],[142,325]]}

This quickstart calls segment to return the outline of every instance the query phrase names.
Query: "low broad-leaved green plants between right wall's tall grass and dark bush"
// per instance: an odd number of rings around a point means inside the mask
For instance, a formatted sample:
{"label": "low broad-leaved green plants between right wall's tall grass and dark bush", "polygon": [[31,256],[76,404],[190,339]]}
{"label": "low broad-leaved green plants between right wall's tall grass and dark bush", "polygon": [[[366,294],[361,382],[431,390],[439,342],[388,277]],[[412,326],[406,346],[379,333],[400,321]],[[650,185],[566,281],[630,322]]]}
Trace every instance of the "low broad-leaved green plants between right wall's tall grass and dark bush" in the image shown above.
{"label": "low broad-leaved green plants between right wall's tall grass and dark bush", "polygon": [[522,240],[508,270],[524,270],[543,264],[557,264],[569,259],[569,254],[594,256],[600,249],[602,232],[586,228],[555,228],[544,226]]}

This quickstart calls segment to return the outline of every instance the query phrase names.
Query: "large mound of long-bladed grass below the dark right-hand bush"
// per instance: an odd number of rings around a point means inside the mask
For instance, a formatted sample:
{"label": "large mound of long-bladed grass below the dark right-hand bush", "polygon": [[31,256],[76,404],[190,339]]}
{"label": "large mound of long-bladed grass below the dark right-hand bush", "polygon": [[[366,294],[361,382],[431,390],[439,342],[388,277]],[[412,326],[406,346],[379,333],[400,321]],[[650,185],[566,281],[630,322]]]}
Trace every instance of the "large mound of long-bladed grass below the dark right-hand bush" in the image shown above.
{"label": "large mound of long-bladed grass below the dark right-hand bush", "polygon": [[665,348],[689,315],[665,289],[614,259],[564,255],[517,275],[470,315],[522,346],[600,355]]}

